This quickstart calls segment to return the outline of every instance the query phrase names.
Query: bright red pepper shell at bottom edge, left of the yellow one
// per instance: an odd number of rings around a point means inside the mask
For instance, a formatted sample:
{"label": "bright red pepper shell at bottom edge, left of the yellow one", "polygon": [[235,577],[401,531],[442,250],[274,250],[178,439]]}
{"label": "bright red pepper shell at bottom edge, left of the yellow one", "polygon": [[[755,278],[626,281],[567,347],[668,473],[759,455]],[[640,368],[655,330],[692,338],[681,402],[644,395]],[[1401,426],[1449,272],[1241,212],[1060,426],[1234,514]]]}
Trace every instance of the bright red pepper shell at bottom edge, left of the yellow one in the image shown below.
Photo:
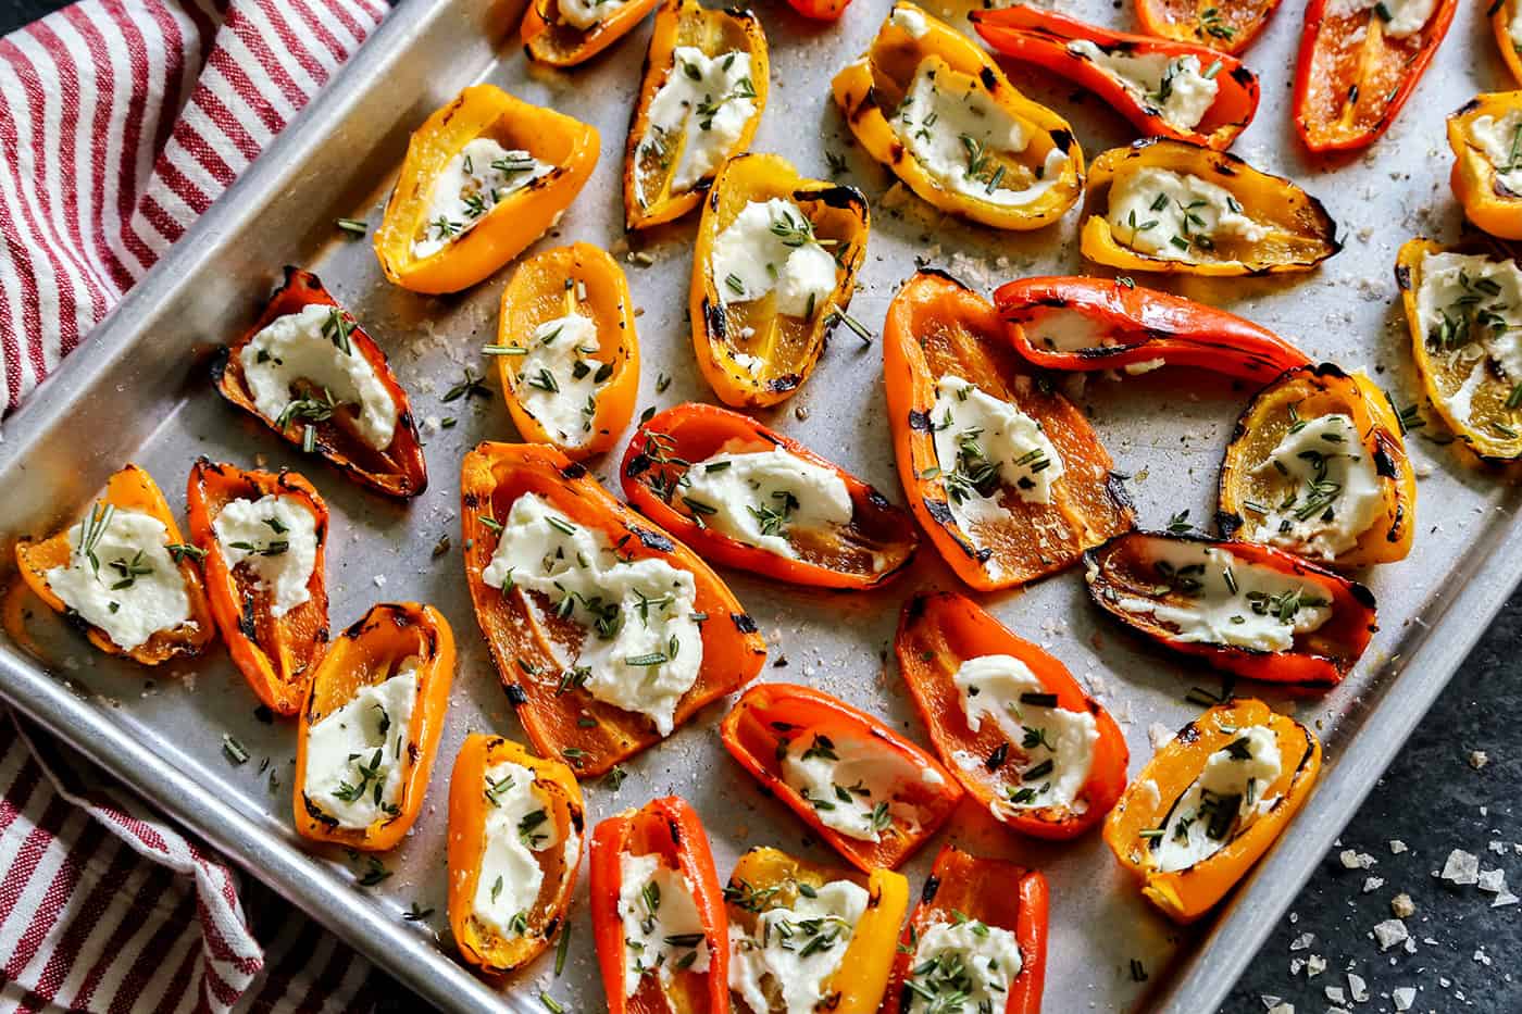
{"label": "bright red pepper shell at bottom edge, left of the yellow one", "polygon": [[[708,968],[677,968],[639,977],[624,988],[627,941],[619,912],[624,856],[656,856],[686,882],[708,944]],[[610,816],[592,831],[592,936],[603,971],[607,1014],[729,1014],[729,915],[714,869],[714,854],[697,812],[680,796],[651,799],[639,810]],[[654,898],[654,904],[662,901]]]}

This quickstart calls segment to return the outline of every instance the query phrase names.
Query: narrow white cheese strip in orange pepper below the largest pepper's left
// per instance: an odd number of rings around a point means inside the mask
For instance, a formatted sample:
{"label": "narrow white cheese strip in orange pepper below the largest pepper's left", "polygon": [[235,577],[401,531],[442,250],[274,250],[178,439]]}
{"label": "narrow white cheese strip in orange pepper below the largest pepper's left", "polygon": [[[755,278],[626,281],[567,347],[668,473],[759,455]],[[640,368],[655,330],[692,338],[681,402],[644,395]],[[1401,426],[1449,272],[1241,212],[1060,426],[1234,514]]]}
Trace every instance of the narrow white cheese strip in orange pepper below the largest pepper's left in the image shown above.
{"label": "narrow white cheese strip in orange pepper below the largest pepper's left", "polygon": [[486,770],[486,845],[472,912],[502,936],[522,936],[539,900],[545,871],[534,853],[560,843],[560,828],[534,787],[534,772],[501,763]]}

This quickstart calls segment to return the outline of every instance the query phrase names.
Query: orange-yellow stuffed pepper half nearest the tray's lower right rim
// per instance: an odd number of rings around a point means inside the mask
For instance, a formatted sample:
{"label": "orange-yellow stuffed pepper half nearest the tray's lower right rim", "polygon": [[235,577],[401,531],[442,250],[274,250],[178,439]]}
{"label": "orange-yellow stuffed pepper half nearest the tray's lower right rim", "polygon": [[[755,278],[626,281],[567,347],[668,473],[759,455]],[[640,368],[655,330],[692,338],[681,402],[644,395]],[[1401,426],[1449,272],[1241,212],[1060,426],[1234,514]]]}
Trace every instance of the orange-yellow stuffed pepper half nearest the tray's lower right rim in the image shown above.
{"label": "orange-yellow stuffed pepper half nearest the tray's lower right rim", "polygon": [[1208,912],[1289,827],[1321,743],[1262,700],[1210,708],[1158,748],[1105,821],[1105,843],[1178,923]]}

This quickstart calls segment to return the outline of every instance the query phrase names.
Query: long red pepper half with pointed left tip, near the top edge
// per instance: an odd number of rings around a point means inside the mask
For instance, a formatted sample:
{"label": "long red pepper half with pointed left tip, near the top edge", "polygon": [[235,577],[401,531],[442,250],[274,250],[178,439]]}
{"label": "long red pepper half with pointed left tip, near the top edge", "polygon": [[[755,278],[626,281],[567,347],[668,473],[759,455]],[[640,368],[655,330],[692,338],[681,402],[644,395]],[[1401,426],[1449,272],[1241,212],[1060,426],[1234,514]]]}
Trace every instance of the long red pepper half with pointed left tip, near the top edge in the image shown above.
{"label": "long red pepper half with pointed left tip, near the top edge", "polygon": [[[1023,3],[1000,11],[973,11],[968,18],[994,50],[1088,88],[1131,120],[1143,137],[1177,137],[1224,151],[1257,113],[1257,76],[1236,56],[1218,53],[1208,46],[1116,32]],[[1216,82],[1215,102],[1193,128],[1175,126],[1149,102],[1155,96],[1138,96],[1135,88],[1126,88],[1116,75],[1087,55],[1073,52],[1070,43],[1075,41],[1093,43],[1103,53],[1123,56],[1158,55],[1170,61],[1195,56],[1199,61],[1198,73]]]}

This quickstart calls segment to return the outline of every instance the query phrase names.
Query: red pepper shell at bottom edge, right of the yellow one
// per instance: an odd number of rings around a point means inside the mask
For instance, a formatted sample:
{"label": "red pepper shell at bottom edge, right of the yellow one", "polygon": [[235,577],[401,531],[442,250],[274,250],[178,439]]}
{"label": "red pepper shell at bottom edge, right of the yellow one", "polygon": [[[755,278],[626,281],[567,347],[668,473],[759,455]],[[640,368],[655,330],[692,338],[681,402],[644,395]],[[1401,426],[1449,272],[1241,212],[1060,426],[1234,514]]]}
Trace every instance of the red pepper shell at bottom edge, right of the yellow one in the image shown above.
{"label": "red pepper shell at bottom edge, right of the yellow one", "polygon": [[[1003,859],[986,859],[945,845],[936,856],[919,904],[909,917],[893,961],[883,1014],[910,1014],[913,997],[922,996],[910,982],[935,970],[916,961],[921,936],[936,923],[977,920],[1015,935],[1020,974],[1009,984],[1000,1014],[1040,1014],[1046,985],[1047,883],[1040,871]],[[924,1009],[924,1003],[918,1005]]]}

